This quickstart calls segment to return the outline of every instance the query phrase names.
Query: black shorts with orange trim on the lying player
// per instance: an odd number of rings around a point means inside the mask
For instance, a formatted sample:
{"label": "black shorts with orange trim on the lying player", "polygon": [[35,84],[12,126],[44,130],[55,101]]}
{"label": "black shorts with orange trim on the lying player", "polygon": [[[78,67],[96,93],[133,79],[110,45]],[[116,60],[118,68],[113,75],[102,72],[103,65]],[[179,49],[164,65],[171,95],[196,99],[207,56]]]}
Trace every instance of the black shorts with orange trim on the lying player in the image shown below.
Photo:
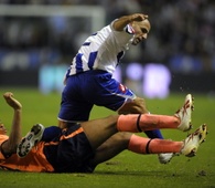
{"label": "black shorts with orange trim on the lying player", "polygon": [[93,173],[89,159],[95,153],[79,124],[62,130],[58,138],[45,144],[44,154],[55,173]]}

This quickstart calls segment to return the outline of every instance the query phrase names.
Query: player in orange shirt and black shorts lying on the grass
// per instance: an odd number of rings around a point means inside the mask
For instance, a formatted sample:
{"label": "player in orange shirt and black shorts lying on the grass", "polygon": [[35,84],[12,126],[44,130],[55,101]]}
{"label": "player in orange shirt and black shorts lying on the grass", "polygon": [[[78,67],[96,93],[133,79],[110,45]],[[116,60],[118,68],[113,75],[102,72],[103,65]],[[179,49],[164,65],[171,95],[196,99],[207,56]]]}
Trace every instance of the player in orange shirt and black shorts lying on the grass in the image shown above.
{"label": "player in orange shirt and black shorts lying on the grass", "polygon": [[[17,103],[12,94],[6,94],[4,98],[9,104]],[[11,106],[17,111],[13,105]],[[0,167],[21,171],[92,173],[98,164],[125,149],[137,154],[174,153],[193,157],[206,137],[205,124],[182,142],[150,139],[132,134],[154,128],[189,130],[192,107],[192,96],[187,95],[182,108],[173,116],[111,115],[62,129],[61,134],[49,143],[40,142],[44,127],[36,124],[18,146],[18,155],[22,158],[14,154],[14,148],[11,150],[6,148],[7,143],[12,140],[11,136],[20,137],[20,132],[17,132],[21,127],[20,123],[12,126],[11,133],[17,134],[10,134],[10,137],[6,135],[4,126],[1,124]],[[20,122],[20,116],[21,114],[14,114],[13,123]]]}

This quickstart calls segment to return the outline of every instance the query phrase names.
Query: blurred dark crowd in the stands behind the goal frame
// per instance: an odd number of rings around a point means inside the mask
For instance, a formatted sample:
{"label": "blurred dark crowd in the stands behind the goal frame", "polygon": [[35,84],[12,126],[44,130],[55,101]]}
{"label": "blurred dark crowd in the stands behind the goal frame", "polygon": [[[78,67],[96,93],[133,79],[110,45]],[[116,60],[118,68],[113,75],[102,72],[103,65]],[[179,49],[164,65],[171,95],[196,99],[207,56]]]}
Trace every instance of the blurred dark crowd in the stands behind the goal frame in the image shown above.
{"label": "blurred dark crowd in the stands behind the goal frame", "polygon": [[[1,4],[101,6],[106,24],[120,15],[143,12],[149,14],[151,32],[146,42],[129,51],[123,63],[162,63],[182,73],[215,72],[214,0],[0,0]],[[85,22],[0,17],[0,69],[11,59],[23,64],[26,51],[32,67],[41,62],[69,63],[78,49],[75,34],[89,34]],[[6,58],[9,51],[14,53]]]}

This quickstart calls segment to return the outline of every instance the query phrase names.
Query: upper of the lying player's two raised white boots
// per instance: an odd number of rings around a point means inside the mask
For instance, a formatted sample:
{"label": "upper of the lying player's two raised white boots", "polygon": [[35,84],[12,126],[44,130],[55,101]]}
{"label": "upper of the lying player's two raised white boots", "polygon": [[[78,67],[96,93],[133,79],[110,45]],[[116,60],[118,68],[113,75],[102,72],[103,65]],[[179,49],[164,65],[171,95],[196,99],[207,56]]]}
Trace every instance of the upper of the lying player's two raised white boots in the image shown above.
{"label": "upper of the lying player's two raised white boots", "polygon": [[175,113],[175,116],[181,119],[180,125],[178,126],[179,129],[183,132],[187,132],[192,128],[191,124],[191,114],[194,109],[194,98],[191,94],[187,94],[184,101],[183,106]]}

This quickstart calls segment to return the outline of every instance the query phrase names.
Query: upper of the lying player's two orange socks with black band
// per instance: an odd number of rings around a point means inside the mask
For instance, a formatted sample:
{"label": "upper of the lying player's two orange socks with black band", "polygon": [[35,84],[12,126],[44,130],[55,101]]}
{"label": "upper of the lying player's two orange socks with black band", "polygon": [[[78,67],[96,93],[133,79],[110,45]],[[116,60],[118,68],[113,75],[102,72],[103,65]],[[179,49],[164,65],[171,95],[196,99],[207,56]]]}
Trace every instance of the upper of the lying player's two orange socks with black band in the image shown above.
{"label": "upper of the lying player's two orange socks with black band", "polygon": [[146,132],[160,128],[178,128],[180,119],[176,116],[129,114],[120,115],[117,121],[119,132]]}

